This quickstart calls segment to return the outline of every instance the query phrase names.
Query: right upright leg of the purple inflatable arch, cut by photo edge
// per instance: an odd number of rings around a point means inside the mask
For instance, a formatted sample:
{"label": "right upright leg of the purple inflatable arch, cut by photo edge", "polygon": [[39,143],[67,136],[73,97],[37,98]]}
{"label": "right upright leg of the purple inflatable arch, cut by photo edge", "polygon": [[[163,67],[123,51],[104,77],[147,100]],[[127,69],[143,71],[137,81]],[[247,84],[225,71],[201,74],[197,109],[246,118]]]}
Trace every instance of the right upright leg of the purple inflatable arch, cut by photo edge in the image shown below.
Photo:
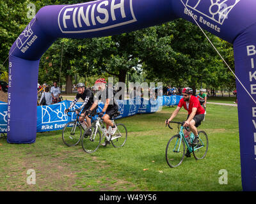
{"label": "right upright leg of the purple inflatable arch, cut by photo edge", "polygon": [[[252,25],[234,41],[236,75],[252,96],[256,94],[255,33],[256,25]],[[244,191],[256,191],[256,104],[239,82],[236,87],[242,185]]]}

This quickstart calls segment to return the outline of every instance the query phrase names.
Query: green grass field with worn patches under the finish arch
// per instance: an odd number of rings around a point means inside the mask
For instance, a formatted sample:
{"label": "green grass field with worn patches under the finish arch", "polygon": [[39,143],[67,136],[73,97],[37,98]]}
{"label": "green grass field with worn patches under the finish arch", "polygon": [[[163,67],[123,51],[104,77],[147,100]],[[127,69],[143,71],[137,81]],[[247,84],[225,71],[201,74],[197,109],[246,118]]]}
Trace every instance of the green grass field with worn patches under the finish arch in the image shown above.
{"label": "green grass field with worn patches under the finish arch", "polygon": [[[241,191],[237,108],[209,104],[200,126],[209,151],[205,159],[185,158],[177,168],[165,161],[166,144],[177,133],[174,125],[172,131],[164,125],[173,110],[119,119],[128,130],[124,147],[100,147],[93,154],[80,144],[65,146],[61,131],[37,133],[30,145],[1,139],[0,191]],[[175,120],[186,114],[182,109]],[[36,185],[26,183],[29,169],[36,171]],[[218,182],[221,169],[228,171],[227,185]]]}

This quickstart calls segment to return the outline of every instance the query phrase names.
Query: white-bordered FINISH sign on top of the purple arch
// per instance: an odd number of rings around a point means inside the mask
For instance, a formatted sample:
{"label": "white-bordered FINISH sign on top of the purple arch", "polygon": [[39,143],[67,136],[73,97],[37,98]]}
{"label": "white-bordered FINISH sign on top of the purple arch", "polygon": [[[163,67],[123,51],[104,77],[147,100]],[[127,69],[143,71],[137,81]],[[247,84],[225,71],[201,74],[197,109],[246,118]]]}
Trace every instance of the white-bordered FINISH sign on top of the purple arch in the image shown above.
{"label": "white-bordered FINISH sign on top of the purple arch", "polygon": [[93,1],[64,6],[58,16],[62,33],[88,33],[136,22],[132,0]]}

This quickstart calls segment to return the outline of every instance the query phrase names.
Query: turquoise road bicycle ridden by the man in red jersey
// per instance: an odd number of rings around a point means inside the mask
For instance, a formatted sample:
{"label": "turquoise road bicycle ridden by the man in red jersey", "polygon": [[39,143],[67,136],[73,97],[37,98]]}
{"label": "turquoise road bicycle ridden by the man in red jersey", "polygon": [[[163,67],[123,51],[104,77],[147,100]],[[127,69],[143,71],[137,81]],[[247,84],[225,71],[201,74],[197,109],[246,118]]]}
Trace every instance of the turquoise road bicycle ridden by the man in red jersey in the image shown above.
{"label": "turquoise road bicycle ridden by the man in red jersey", "polygon": [[[171,121],[172,122],[172,121]],[[185,145],[187,147],[187,152],[191,154],[193,152],[193,156],[195,159],[204,159],[208,150],[208,136],[205,131],[198,131],[199,143],[197,145],[192,145],[195,135],[191,132],[190,141],[187,141],[183,130],[186,129],[189,131],[189,128],[184,128],[184,122],[172,122],[178,124],[178,133],[177,135],[172,136],[166,145],[165,150],[165,158],[168,165],[171,168],[179,166],[184,160],[185,156]],[[167,126],[167,124],[166,124]],[[179,127],[180,126],[180,127]],[[170,124],[168,124],[170,129]]]}

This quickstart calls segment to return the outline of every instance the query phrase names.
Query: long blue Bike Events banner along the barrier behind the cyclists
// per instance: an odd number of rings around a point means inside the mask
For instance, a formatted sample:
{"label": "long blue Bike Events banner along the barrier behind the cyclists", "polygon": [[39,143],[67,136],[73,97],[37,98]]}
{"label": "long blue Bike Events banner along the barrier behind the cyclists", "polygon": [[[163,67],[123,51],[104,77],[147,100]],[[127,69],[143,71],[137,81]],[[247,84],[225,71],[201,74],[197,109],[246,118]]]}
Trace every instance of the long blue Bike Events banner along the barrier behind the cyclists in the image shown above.
{"label": "long blue Bike Events banner along the barrier behind the cyclists", "polygon": [[[161,106],[177,105],[182,96],[163,96],[157,99],[134,98],[127,100],[117,100],[120,115],[116,119],[129,117],[137,113],[154,113]],[[70,112],[68,116],[64,110],[70,106],[71,101],[61,101],[49,106],[37,106],[36,132],[54,131],[63,129],[71,120],[76,119],[76,113]],[[72,110],[79,108],[82,102],[77,102]],[[99,103],[97,112],[101,112],[104,107]],[[8,112],[7,103],[0,101],[0,133],[7,133]],[[95,116],[96,118],[97,116]]]}

